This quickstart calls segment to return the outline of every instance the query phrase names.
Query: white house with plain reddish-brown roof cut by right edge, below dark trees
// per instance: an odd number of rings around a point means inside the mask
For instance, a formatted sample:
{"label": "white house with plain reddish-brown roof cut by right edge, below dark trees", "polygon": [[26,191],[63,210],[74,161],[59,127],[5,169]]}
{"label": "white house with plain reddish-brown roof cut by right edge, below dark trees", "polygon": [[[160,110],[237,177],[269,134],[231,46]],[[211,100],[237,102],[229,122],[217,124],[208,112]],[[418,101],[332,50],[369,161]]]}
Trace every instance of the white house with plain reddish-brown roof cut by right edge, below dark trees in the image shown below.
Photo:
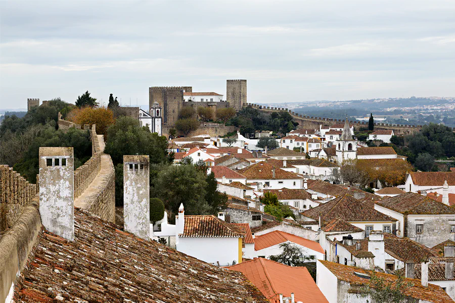
{"label": "white house with plain reddish-brown roof cut by right edge, below dark trees", "polygon": [[404,190],[443,194],[444,182],[447,182],[448,193],[455,193],[455,172],[411,172],[406,177]]}

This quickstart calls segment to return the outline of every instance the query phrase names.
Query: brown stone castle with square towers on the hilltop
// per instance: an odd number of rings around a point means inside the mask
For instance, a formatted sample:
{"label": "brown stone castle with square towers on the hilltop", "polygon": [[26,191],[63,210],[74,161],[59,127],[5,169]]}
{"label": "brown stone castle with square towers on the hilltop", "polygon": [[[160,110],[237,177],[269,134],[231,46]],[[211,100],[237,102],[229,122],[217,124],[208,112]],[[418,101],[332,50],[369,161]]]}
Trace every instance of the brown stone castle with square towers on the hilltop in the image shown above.
{"label": "brown stone castle with square towers on the hilltop", "polygon": [[240,111],[243,106],[247,104],[247,81],[226,80],[226,100],[221,100],[221,102],[213,102],[212,99],[207,102],[199,102],[196,100],[185,101],[185,93],[193,93],[193,87],[149,87],[149,109],[152,108],[155,102],[161,106],[164,125],[173,125],[175,121],[178,120],[179,111],[187,106],[212,107],[214,109],[232,107],[236,111]]}

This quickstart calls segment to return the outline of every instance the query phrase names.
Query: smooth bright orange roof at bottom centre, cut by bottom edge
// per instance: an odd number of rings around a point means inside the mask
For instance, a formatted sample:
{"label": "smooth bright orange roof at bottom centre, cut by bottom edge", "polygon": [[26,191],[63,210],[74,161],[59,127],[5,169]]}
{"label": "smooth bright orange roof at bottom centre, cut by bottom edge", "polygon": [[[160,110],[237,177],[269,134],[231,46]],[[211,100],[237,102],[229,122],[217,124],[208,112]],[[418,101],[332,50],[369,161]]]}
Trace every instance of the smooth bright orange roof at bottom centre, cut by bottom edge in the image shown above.
{"label": "smooth bright orange roof at bottom centre, cut by bottom edge", "polygon": [[272,303],[280,301],[280,294],[290,297],[291,293],[296,302],[328,303],[306,267],[256,258],[227,268],[243,273]]}

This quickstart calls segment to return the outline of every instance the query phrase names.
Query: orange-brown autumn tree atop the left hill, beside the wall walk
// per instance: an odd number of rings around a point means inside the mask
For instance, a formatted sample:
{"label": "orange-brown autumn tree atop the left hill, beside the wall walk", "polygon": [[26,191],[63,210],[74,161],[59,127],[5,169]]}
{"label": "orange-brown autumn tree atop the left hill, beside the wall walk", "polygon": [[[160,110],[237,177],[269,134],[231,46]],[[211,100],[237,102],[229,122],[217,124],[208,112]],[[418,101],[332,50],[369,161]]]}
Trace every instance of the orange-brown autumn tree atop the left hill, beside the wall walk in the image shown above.
{"label": "orange-brown autumn tree atop the left hill, beside the wall walk", "polygon": [[80,124],[81,126],[93,124],[97,126],[97,134],[107,136],[108,127],[114,124],[114,114],[110,109],[100,107],[75,108],[68,114],[68,121]]}

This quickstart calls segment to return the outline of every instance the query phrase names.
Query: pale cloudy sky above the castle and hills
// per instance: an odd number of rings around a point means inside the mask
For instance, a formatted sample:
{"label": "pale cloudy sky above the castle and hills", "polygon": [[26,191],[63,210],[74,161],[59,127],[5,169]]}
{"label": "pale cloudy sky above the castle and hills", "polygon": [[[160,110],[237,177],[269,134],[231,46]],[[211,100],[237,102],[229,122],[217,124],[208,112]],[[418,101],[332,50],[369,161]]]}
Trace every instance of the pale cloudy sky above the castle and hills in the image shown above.
{"label": "pale cloudy sky above the castle and hills", "polygon": [[249,103],[455,96],[455,1],[1,1],[0,109],[148,104],[150,86]]}

